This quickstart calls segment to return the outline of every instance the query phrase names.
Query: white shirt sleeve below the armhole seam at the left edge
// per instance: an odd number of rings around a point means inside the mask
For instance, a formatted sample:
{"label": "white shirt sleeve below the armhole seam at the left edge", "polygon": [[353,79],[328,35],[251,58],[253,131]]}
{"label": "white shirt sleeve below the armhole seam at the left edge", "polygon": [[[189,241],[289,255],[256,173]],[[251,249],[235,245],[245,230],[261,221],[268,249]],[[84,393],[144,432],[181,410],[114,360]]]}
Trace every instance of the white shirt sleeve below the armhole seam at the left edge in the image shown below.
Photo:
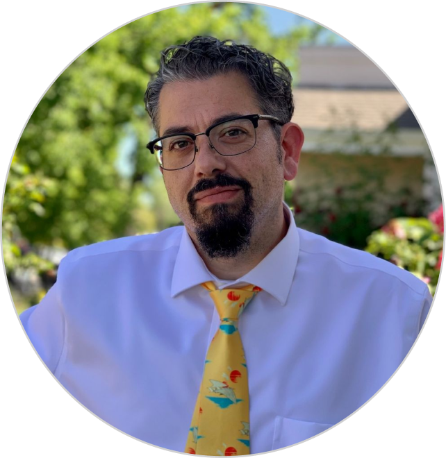
{"label": "white shirt sleeve below the armhole seam at the left edge", "polygon": [[38,305],[26,309],[19,318],[36,353],[55,373],[65,347],[65,319],[57,282]]}

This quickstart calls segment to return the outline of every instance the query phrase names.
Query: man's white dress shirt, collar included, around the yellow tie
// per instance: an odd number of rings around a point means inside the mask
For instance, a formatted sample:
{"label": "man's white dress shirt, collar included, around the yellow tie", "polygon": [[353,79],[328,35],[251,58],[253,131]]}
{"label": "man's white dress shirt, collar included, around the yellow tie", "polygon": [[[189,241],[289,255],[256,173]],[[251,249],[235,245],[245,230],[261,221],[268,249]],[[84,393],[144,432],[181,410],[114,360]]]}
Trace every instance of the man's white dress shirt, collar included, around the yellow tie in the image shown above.
{"label": "man's white dress shirt, collar included, around the yellow tie", "polygon": [[[274,250],[226,285],[263,289],[239,323],[252,454],[304,441],[355,412],[403,362],[431,305],[411,273],[290,220]],[[200,286],[208,280],[215,277],[183,227],[115,239],[70,252],[56,285],[21,319],[49,371],[84,407],[183,452],[220,323]]]}

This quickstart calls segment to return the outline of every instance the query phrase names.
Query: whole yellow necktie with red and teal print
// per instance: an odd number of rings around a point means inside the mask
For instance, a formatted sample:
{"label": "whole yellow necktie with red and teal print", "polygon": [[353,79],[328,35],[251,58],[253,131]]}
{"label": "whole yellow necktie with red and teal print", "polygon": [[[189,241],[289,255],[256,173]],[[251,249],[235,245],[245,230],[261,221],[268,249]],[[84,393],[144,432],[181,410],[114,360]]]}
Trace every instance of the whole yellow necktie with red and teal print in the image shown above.
{"label": "whole yellow necktie with red and teal print", "polygon": [[221,322],[206,355],[185,452],[249,455],[248,373],[238,317],[261,288],[218,290],[213,282],[201,286],[210,291]]}

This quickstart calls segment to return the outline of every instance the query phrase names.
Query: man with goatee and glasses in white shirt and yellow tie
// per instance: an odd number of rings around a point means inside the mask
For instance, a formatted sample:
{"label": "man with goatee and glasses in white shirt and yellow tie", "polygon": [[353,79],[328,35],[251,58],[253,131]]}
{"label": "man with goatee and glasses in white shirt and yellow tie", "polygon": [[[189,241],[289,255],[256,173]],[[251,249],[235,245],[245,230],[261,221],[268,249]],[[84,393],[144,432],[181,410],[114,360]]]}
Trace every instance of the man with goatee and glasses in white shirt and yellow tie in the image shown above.
{"label": "man with goatee and glasses in white shirt and yellow tie", "polygon": [[[283,183],[304,135],[281,62],[195,37],[162,53],[145,101],[157,133],[148,148],[184,226],[69,253],[21,316],[33,346],[92,413],[169,450],[267,452],[336,425],[406,357],[431,304],[426,285],[296,228]],[[219,316],[220,293],[238,318]],[[215,353],[224,334],[240,338],[240,366],[208,377],[233,353]],[[245,420],[231,416],[248,406]],[[200,420],[208,407],[218,413]],[[239,436],[221,439],[232,423]],[[214,434],[214,451],[200,449]]]}

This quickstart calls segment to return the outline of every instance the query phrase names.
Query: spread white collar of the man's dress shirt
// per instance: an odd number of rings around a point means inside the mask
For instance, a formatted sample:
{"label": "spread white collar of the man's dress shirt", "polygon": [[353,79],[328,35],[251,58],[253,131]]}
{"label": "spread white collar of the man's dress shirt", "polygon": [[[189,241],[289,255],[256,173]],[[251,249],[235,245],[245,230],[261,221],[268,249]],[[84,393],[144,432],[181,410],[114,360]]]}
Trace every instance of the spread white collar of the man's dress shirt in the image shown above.
{"label": "spread white collar of the man's dress shirt", "polygon": [[[288,213],[290,221],[286,236],[254,269],[251,269],[238,280],[229,282],[226,287],[231,287],[231,285],[236,285],[240,282],[251,283],[261,287],[276,298],[281,305],[286,304],[296,271],[297,258],[299,257],[299,232],[291,210],[285,203],[283,203],[283,207]],[[208,271],[206,264],[197,253],[187,230],[183,228],[183,235],[172,275],[172,297],[186,289],[214,279],[215,277]]]}

